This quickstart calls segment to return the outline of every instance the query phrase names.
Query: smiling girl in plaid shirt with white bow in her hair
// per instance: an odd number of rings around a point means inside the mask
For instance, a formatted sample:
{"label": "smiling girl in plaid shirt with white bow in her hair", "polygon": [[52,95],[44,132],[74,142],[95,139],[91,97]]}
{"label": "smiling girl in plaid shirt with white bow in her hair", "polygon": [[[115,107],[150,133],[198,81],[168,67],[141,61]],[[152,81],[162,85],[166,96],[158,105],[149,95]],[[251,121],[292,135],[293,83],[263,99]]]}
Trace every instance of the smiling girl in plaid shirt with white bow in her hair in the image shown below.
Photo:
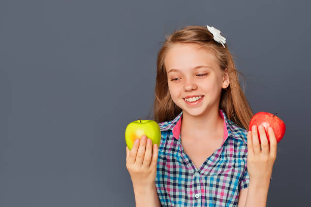
{"label": "smiling girl in plaid shirt with white bow in her hair", "polygon": [[266,206],[276,139],[271,128],[270,145],[262,126],[247,130],[253,112],[225,42],[208,25],[166,37],[154,101],[161,143],[143,135],[126,147],[137,207]]}

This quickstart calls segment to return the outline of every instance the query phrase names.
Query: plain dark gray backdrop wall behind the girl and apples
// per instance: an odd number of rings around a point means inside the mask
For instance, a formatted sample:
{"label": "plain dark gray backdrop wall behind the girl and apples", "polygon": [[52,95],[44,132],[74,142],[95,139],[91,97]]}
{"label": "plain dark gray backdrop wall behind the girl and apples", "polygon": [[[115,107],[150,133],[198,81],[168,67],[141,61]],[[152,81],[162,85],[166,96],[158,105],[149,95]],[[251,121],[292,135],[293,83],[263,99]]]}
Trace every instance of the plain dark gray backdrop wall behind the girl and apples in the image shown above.
{"label": "plain dark gray backdrop wall behind the girl and apples", "polygon": [[1,1],[0,206],[135,206],[124,132],[148,118],[157,52],[220,29],[254,113],[278,113],[268,206],[310,204],[308,1]]}

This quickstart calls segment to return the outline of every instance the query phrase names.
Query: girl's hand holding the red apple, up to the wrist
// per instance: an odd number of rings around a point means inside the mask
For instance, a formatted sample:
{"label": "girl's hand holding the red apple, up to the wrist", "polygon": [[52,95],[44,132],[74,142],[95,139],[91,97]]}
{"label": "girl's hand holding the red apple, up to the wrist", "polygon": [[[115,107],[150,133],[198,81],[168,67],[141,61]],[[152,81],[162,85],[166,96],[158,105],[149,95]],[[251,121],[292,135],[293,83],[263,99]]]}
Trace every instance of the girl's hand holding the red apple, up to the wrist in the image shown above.
{"label": "girl's hand holding the red apple, up to the wrist", "polygon": [[259,125],[258,130],[261,145],[259,143],[256,125],[253,125],[252,131],[248,131],[247,133],[247,170],[250,180],[266,180],[270,182],[273,164],[276,159],[277,142],[271,127],[268,127],[270,145],[264,126]]}

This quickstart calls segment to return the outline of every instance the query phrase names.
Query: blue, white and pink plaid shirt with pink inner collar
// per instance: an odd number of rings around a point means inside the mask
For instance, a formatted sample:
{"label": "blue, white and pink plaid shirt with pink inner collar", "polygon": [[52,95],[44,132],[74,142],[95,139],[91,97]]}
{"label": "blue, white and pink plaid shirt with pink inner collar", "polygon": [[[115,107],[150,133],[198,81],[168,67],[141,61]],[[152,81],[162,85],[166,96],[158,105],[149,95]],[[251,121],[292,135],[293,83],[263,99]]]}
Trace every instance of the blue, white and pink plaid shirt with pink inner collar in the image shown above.
{"label": "blue, white and pink plaid shirt with pink inner collar", "polygon": [[247,130],[230,121],[223,110],[222,145],[200,169],[185,154],[180,142],[182,112],[159,123],[161,143],[155,187],[162,206],[237,206],[239,191],[248,187]]}

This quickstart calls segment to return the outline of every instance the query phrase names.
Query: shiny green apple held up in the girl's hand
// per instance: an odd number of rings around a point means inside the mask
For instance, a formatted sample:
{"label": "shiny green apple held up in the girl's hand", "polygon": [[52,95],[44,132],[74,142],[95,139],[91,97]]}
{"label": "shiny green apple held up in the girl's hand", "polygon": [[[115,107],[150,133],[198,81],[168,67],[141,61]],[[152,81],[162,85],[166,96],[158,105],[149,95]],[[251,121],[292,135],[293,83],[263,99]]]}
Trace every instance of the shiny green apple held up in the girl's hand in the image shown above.
{"label": "shiny green apple held up in the girl's hand", "polygon": [[[125,139],[129,150],[132,149],[134,141],[141,139],[142,135],[152,140],[152,146],[157,144],[158,147],[161,141],[161,129],[159,124],[153,120],[140,119],[129,123],[125,131]],[[153,148],[152,148],[153,149]]]}

